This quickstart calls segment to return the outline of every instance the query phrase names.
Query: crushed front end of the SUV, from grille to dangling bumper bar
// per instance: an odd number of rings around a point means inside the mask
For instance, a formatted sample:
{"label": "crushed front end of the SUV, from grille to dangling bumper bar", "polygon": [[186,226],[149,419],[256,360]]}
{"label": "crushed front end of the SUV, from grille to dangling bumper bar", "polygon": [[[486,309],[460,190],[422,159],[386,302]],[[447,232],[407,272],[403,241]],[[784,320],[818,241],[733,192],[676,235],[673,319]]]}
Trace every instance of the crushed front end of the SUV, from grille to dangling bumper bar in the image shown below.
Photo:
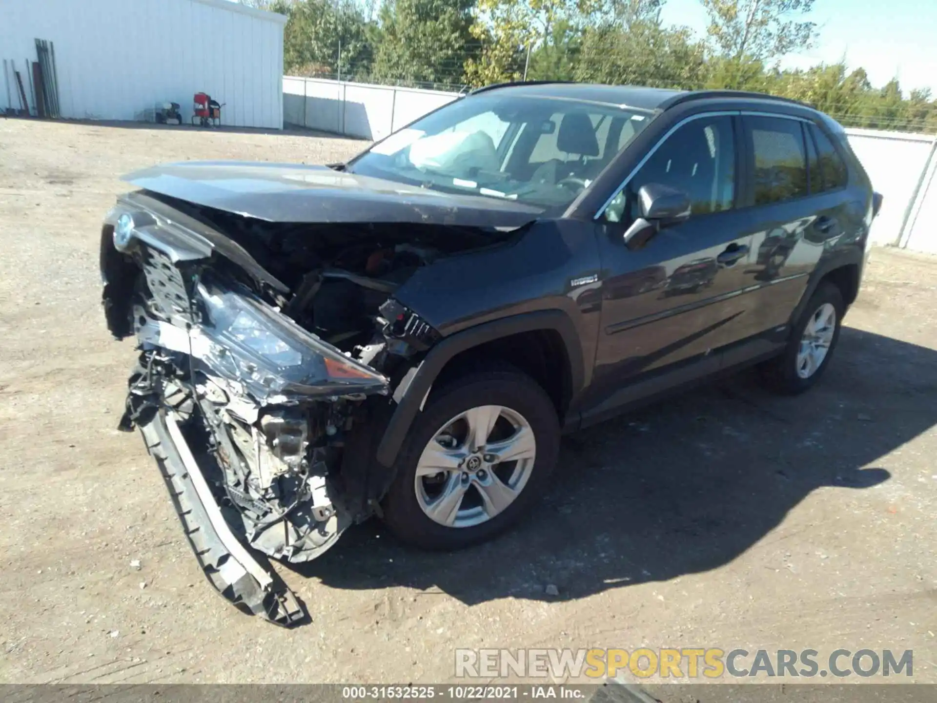
{"label": "crushed front end of the SUV, from grille to dangling bumper bar", "polygon": [[141,193],[108,215],[101,271],[112,334],[139,343],[120,427],[140,428],[205,575],[246,612],[303,621],[256,551],[308,561],[374,512],[362,464],[390,383],[360,359],[387,338],[371,330],[355,356],[307,331],[243,247]]}

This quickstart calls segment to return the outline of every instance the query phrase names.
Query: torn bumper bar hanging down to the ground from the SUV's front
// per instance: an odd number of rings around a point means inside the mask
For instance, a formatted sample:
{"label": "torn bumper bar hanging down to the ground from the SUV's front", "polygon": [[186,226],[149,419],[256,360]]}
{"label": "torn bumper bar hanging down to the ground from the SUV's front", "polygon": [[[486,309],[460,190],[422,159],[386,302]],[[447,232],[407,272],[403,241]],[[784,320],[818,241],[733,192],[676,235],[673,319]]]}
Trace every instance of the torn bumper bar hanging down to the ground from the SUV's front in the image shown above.
{"label": "torn bumper bar hanging down to the ground from the SUV's front", "polygon": [[307,620],[303,606],[275,573],[264,568],[231,531],[171,413],[141,423],[150,456],[170,491],[188,543],[208,580],[238,609],[290,627]]}

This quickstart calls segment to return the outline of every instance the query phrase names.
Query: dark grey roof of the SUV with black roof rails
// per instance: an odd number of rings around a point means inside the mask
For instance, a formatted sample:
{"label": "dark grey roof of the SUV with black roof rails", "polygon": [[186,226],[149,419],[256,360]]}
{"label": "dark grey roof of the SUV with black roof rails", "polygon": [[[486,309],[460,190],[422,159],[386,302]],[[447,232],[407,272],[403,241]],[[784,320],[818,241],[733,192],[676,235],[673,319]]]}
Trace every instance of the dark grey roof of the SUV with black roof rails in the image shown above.
{"label": "dark grey roof of the SUV with black roof rails", "polygon": [[741,90],[671,90],[669,88],[648,88],[641,85],[603,85],[598,83],[574,83],[553,81],[530,81],[495,83],[483,88],[476,88],[469,95],[488,91],[510,91],[515,96],[553,97],[568,100],[585,100],[609,105],[627,106],[640,110],[666,110],[674,105],[706,98],[769,100],[786,104],[796,104],[810,108],[810,105],[786,97],[770,96],[765,93],[750,93]]}

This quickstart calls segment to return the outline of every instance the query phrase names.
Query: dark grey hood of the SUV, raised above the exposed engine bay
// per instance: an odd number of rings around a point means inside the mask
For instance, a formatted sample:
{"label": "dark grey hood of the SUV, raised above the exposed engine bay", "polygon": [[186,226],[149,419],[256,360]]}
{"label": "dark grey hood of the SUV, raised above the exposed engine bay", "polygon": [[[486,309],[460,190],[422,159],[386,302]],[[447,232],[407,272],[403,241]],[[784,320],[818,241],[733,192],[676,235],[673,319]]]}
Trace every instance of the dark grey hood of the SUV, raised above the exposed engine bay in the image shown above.
{"label": "dark grey hood of the SUV, raised above the exposed engine bay", "polygon": [[513,229],[543,212],[515,201],[443,193],[326,166],[186,161],[129,173],[123,180],[271,222],[415,222]]}

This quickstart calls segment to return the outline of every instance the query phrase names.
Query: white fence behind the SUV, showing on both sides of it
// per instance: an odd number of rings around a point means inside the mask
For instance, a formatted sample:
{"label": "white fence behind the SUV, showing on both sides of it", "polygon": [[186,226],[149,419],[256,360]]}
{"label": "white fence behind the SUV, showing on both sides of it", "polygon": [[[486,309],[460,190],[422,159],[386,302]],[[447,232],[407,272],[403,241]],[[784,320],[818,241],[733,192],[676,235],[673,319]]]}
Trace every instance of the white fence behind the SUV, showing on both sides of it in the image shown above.
{"label": "white fence behind the SUV, showing on both sides of it", "polygon": [[[283,120],[349,137],[379,140],[458,94],[318,78],[283,78]],[[878,245],[937,254],[937,138],[847,129],[872,186],[885,196],[872,226]]]}

